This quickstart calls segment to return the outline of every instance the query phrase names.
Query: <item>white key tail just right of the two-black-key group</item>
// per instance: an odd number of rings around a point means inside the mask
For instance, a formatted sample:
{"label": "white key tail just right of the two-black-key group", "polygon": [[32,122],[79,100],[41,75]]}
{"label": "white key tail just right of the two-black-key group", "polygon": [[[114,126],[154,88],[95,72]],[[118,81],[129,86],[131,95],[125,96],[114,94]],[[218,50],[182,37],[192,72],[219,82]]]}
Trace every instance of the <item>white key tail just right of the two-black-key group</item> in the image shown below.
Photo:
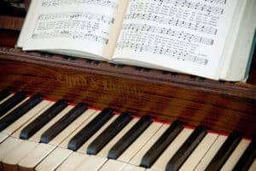
{"label": "white key tail just right of the two-black-key group", "polygon": [[63,140],[65,140],[70,134],[73,133],[79,126],[87,121],[96,111],[88,109],[84,111],[73,123],[70,123],[67,128],[64,128],[60,134],[57,134],[53,140],[49,142],[50,145],[60,145]]}

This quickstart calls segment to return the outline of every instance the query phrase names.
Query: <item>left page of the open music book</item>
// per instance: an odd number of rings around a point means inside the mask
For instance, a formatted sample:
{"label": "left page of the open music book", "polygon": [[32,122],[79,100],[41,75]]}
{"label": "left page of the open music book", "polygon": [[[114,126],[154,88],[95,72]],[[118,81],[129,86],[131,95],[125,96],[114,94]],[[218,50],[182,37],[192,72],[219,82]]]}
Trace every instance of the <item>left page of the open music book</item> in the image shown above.
{"label": "left page of the open music book", "polygon": [[40,0],[37,5],[25,50],[73,50],[103,56],[119,0]]}

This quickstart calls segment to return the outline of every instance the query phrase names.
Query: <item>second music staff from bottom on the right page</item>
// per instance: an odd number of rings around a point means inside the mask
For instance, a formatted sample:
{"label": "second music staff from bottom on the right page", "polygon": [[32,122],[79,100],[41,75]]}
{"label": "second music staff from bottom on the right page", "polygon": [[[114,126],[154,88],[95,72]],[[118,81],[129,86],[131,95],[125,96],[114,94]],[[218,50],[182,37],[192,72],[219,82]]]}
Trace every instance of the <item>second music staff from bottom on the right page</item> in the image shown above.
{"label": "second music staff from bottom on the right page", "polygon": [[122,30],[132,31],[138,34],[140,34],[141,31],[154,32],[157,34],[163,34],[166,36],[175,37],[183,41],[187,41],[189,43],[193,42],[193,43],[202,43],[206,45],[212,45],[214,42],[212,38],[200,37],[194,34],[190,34],[188,32],[175,31],[171,28],[167,29],[165,27],[160,27],[160,26],[150,26],[150,25],[144,25],[144,24],[125,24],[123,25]]}

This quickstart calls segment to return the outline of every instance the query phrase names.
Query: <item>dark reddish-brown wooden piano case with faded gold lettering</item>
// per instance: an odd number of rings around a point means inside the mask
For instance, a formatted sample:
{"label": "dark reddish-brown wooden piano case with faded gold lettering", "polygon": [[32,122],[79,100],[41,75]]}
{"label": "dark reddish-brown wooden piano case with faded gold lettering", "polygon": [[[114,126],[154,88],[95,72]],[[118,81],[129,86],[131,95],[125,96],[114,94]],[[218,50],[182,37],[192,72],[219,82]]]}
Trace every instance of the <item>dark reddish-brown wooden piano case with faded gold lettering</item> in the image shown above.
{"label": "dark reddish-brown wooden piano case with faded gold lettering", "polygon": [[[0,89],[40,93],[53,100],[85,102],[97,108],[180,119],[214,131],[256,135],[256,59],[247,83],[201,77],[15,47],[24,16],[0,15]],[[254,55],[255,56],[255,55]]]}

